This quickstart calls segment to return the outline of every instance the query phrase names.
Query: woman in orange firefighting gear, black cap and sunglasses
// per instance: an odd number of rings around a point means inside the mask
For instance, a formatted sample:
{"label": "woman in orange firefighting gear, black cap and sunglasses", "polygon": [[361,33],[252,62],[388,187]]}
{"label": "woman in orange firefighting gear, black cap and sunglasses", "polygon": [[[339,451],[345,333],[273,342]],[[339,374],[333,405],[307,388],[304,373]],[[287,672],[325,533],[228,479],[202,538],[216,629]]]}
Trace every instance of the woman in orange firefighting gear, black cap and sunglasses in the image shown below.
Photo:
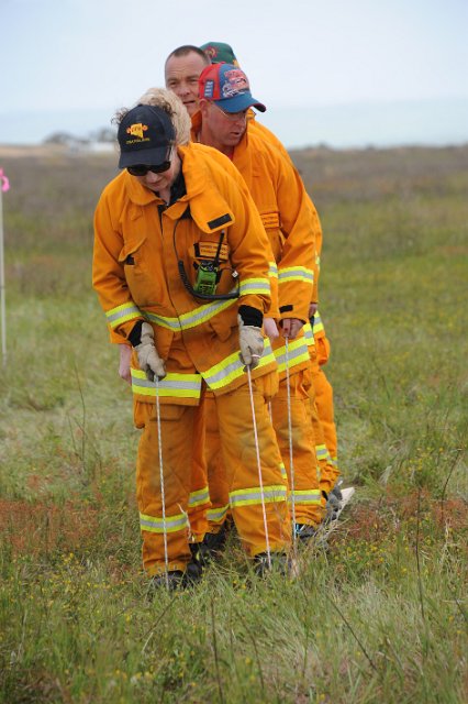
{"label": "woman in orange firefighting gear, black cap and sunglasses", "polygon": [[263,565],[267,550],[283,554],[290,543],[265,400],[277,369],[260,330],[270,305],[268,240],[232,164],[197,144],[175,146],[181,113],[180,103],[177,116],[149,106],[123,114],[119,165],[129,170],[99,200],[93,256],[112,339],[133,346],[143,562],[153,584],[166,583],[167,572],[170,586],[190,572],[187,509],[191,468],[204,463],[204,388],[216,398],[230,505],[247,553]]}

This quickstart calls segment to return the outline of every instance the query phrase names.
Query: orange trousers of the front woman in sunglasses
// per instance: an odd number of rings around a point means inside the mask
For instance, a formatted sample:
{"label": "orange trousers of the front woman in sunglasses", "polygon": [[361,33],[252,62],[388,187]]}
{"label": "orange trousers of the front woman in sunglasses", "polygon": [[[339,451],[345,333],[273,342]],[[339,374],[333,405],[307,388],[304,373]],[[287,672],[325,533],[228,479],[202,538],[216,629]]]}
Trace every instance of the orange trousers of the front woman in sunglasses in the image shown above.
{"label": "orange trousers of the front woman in sunglasses", "polygon": [[[265,552],[268,548],[271,551],[283,551],[290,543],[287,485],[281,475],[281,457],[266,404],[265,388],[270,383],[268,376],[252,382],[260,472],[247,384],[231,393],[212,397],[219,424],[229,505],[242,544],[249,557]],[[202,395],[199,406],[159,405],[160,433],[157,407],[141,405],[152,409],[151,413],[147,408],[143,411],[136,409],[140,422],[144,420],[136,473],[143,563],[149,575],[165,570],[166,534],[168,569],[183,571],[191,559],[191,527],[188,519],[193,492],[191,468],[200,468],[204,462],[204,437],[200,432],[204,398]],[[161,472],[164,486],[160,481]],[[193,513],[192,507],[190,514],[193,516]]]}

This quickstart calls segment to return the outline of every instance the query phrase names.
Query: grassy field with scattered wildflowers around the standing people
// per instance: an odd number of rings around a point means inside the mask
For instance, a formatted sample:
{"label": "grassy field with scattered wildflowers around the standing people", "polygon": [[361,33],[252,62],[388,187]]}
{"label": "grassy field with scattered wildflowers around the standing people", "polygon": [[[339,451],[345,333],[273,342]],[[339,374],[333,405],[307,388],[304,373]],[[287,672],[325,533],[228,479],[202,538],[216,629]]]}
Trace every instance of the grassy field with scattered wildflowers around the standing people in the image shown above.
{"label": "grassy field with scattered wildflowers around the standing people", "polygon": [[233,540],[194,591],[151,601],[131,392],[90,285],[115,160],[0,148],[0,702],[468,700],[468,147],[293,158],[356,501],[296,581],[254,579]]}

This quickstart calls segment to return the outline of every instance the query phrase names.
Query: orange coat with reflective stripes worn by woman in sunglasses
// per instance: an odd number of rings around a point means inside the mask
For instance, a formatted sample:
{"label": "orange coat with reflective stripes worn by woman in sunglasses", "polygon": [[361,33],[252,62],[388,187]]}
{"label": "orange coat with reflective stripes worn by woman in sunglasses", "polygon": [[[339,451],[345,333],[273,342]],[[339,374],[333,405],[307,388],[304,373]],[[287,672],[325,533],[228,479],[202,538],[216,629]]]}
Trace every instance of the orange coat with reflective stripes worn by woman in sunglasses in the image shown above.
{"label": "orange coat with reflective stripes worn by woman in sunglasses", "polygon": [[[237,309],[239,305],[261,312],[269,309],[269,245],[245,184],[229,161],[221,166],[197,144],[178,152],[187,195],[164,211],[158,211],[160,199],[126,172],[104,189],[94,218],[93,286],[113,341],[124,342],[137,320],[153,324],[159,356],[168,360],[167,376],[160,382],[161,403],[197,405],[201,377],[214,393],[245,383]],[[193,286],[194,264],[218,248],[221,237],[216,294],[238,288],[239,297],[203,302],[187,290],[179,262]],[[176,349],[170,354],[177,334],[187,346],[192,370],[178,361]],[[254,376],[274,369],[266,343]],[[132,370],[132,385],[137,400],[154,398],[153,386],[137,369]]]}

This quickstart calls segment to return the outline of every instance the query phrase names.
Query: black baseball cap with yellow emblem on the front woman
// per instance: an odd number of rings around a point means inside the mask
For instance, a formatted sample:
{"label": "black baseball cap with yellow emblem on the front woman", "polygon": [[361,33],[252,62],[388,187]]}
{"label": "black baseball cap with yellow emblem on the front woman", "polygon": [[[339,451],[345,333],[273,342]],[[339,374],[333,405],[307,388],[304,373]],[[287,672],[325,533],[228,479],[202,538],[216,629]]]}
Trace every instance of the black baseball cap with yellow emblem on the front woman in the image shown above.
{"label": "black baseball cap with yellow emblem on the front woman", "polygon": [[119,125],[119,168],[146,164],[155,166],[167,161],[169,147],[175,143],[172,122],[161,108],[136,106]]}

